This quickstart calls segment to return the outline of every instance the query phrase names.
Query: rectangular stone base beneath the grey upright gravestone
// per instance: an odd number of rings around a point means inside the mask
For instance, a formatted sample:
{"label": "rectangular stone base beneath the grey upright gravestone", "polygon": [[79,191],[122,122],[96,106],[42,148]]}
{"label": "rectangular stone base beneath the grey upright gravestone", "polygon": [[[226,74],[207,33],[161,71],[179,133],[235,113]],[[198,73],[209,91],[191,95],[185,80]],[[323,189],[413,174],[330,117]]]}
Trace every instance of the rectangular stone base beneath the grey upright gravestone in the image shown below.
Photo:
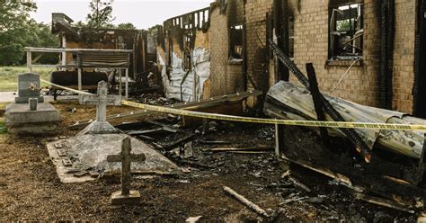
{"label": "rectangular stone base beneath the grey upright gravestone", "polygon": [[38,103],[30,111],[28,103],[10,103],[5,110],[7,131],[16,135],[54,135],[58,133],[60,114],[50,103]]}

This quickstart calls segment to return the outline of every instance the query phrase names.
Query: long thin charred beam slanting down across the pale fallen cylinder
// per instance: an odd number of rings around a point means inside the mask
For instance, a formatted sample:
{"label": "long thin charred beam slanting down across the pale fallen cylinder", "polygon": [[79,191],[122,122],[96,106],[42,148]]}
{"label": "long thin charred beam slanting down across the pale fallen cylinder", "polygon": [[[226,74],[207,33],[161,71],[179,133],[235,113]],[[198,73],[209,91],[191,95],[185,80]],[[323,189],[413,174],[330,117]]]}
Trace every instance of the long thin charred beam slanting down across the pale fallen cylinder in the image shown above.
{"label": "long thin charred beam slanting down across the pale fallen cylinder", "polygon": [[[310,90],[309,81],[307,80],[306,76],[303,75],[303,73],[300,71],[300,69],[297,68],[297,66],[293,63],[293,61],[288,58],[286,54],[282,52],[282,50],[272,41],[270,41],[270,47],[274,54],[277,55],[277,58],[280,59],[281,63],[283,63],[286,67],[288,67],[288,70],[291,71],[296,77],[297,80],[302,83],[306,87],[306,89]],[[323,94],[320,94],[321,102],[324,104],[324,110],[330,116],[333,118],[333,120],[336,121],[345,121],[342,117],[342,115],[337,112],[331,103],[325,99]],[[359,134],[354,129],[342,129],[342,132],[349,138],[352,145],[356,147],[358,152],[364,156],[364,160],[369,163],[371,160],[371,154],[369,151],[369,148],[364,140],[359,137]]]}

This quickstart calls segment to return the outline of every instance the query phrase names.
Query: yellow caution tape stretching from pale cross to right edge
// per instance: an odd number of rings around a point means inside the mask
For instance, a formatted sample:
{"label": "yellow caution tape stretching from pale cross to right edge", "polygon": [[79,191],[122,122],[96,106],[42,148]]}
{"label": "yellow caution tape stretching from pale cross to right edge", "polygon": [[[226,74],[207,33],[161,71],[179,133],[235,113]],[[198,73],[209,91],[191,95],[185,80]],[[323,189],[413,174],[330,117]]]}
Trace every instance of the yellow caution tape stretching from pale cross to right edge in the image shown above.
{"label": "yellow caution tape stretching from pale cross to right edge", "polygon": [[318,120],[272,120],[259,119],[251,117],[241,117],[226,114],[214,114],[206,112],[193,112],[179,110],[144,103],[133,103],[129,101],[121,101],[122,104],[139,109],[145,109],[155,112],[172,113],[183,116],[191,116],[210,120],[232,120],[252,123],[279,124],[291,126],[306,126],[306,127],[327,127],[327,128],[342,128],[342,129],[393,129],[393,130],[426,130],[426,125],[404,125],[404,124],[386,124],[386,123],[368,123],[368,122],[341,122],[341,121],[318,121]]}

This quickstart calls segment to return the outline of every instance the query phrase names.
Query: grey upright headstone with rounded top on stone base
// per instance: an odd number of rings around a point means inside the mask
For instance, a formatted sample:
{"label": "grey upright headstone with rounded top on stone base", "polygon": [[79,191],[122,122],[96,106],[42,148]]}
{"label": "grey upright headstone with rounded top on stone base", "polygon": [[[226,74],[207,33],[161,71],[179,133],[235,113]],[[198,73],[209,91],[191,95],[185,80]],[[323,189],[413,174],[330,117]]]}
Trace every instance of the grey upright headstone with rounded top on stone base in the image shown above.
{"label": "grey upright headstone with rounded top on stone base", "polygon": [[30,98],[37,98],[39,103],[44,102],[40,96],[40,76],[34,73],[18,75],[18,97],[14,98],[14,102],[28,103]]}

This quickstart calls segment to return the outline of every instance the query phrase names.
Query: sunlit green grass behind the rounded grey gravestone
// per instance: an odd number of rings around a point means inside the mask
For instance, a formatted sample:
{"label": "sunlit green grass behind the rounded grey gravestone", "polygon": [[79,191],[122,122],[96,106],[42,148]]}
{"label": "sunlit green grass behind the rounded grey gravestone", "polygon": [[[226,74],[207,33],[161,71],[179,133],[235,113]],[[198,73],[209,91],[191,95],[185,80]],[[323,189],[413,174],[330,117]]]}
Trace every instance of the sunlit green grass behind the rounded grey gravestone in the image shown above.
{"label": "sunlit green grass behind the rounded grey gravestone", "polygon": [[[39,74],[41,79],[49,81],[49,74],[55,68],[33,68],[32,72]],[[29,72],[27,67],[0,67],[0,92],[18,90],[18,75]],[[41,86],[48,86],[41,83]]]}

